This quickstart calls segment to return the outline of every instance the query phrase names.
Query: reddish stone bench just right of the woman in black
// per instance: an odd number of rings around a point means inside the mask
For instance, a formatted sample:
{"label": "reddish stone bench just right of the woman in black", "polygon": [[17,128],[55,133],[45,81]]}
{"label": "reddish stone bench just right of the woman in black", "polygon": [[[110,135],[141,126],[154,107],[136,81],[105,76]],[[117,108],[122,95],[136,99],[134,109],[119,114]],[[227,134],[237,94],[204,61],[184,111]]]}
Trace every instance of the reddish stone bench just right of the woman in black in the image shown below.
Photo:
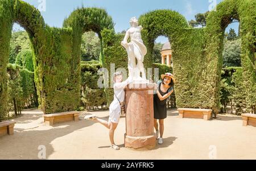
{"label": "reddish stone bench just right of the woman in black", "polygon": [[189,109],[179,108],[179,118],[197,118],[209,120],[212,116],[212,109]]}

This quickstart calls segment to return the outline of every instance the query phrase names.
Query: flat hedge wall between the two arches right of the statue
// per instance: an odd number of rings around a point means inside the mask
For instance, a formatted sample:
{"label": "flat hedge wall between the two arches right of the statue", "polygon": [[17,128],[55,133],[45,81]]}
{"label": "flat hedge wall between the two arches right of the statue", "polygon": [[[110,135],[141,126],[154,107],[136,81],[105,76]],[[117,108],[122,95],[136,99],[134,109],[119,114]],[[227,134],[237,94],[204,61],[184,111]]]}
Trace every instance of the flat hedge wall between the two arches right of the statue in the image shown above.
{"label": "flat hedge wall between the two arches right of the statue", "polygon": [[179,39],[172,43],[177,108],[207,108],[201,91],[204,44],[204,31],[199,28],[182,29]]}

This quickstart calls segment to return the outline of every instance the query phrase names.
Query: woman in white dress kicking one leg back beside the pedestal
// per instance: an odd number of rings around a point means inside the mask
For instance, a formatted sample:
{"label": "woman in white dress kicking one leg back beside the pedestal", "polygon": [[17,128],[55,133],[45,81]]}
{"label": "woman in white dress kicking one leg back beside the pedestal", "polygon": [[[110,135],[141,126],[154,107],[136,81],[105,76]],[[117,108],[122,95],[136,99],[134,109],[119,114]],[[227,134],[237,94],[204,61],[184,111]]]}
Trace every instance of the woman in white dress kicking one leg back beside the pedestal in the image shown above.
{"label": "woman in white dress kicking one leg back beside the pedestal", "polygon": [[122,82],[122,72],[114,73],[114,100],[109,106],[109,121],[97,118],[95,115],[85,116],[85,119],[90,119],[94,122],[101,123],[109,129],[109,139],[111,142],[110,147],[113,149],[119,149],[119,147],[116,146],[114,143],[114,131],[117,128],[121,115],[121,106],[119,104],[119,101],[123,102],[125,100],[124,88],[127,86],[127,84],[130,84],[131,82],[131,78],[128,78],[127,80]]}

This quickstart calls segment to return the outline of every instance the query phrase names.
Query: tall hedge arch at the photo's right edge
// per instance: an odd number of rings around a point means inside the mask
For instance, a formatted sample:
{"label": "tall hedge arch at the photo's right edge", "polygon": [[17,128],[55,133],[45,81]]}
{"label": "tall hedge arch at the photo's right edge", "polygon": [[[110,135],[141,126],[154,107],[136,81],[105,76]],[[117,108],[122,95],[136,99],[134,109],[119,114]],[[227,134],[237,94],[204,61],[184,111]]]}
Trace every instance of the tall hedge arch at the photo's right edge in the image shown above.
{"label": "tall hedge arch at the photo's right edge", "polygon": [[222,51],[225,28],[233,19],[240,21],[241,27],[241,61],[243,78],[246,85],[247,112],[253,112],[256,104],[256,1],[253,0],[226,0],[217,5],[217,11],[210,12],[205,28],[206,62],[204,70],[205,80],[205,107],[212,108],[217,113],[220,101],[220,79],[222,69]]}

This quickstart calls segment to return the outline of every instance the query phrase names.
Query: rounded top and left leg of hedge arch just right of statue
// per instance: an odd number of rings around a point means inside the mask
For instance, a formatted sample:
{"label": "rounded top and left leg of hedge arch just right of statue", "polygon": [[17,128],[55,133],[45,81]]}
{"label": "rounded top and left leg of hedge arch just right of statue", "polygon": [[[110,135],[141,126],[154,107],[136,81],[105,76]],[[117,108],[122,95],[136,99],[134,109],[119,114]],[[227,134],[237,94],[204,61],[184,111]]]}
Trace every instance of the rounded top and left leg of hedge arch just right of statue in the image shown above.
{"label": "rounded top and left leg of hedge arch just right of statue", "polygon": [[183,28],[188,28],[187,20],[176,11],[155,10],[139,17],[139,24],[142,25],[142,39],[147,46],[145,57],[145,68],[152,66],[152,50],[158,36],[166,36],[169,41],[174,42],[176,36],[180,35]]}

